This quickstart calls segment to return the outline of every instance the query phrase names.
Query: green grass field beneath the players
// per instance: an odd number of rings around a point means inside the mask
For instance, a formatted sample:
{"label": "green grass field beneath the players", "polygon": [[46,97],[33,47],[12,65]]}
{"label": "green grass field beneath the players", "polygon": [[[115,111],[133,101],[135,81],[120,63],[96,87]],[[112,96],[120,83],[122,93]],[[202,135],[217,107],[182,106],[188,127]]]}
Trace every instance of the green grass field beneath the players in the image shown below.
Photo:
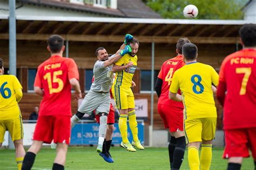
{"label": "green grass field beneath the players", "polygon": [[[95,152],[95,147],[69,147],[65,169],[170,169],[167,148],[145,148],[144,151],[127,152],[121,147],[111,147],[113,164]],[[221,158],[223,148],[213,148],[211,169],[226,169],[227,161]],[[55,151],[43,148],[32,169],[51,169]],[[0,169],[16,169],[15,151],[0,149]],[[187,152],[180,169],[189,169]],[[244,159],[241,169],[254,169],[252,158]]]}

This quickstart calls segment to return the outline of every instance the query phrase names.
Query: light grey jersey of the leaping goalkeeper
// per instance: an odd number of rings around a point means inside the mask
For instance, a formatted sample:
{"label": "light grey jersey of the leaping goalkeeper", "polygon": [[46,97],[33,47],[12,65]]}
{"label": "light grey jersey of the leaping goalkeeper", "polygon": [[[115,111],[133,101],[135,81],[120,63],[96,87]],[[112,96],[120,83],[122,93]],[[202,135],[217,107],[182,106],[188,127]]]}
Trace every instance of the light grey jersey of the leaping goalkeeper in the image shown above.
{"label": "light grey jersey of the leaping goalkeeper", "polygon": [[[114,55],[113,55],[114,56]],[[111,57],[113,57],[111,56]],[[98,60],[93,67],[94,81],[91,90],[96,92],[109,92],[113,84],[113,65],[104,67],[104,62]]]}

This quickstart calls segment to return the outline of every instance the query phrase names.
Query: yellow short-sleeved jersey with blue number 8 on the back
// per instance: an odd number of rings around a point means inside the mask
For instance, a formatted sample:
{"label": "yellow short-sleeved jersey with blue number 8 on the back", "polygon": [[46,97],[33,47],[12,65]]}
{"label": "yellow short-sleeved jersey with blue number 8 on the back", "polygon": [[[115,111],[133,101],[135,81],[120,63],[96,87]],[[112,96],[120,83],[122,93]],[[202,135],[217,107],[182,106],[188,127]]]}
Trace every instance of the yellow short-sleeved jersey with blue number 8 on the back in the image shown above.
{"label": "yellow short-sleeved jersey with blue number 8 on the back", "polygon": [[180,89],[184,119],[217,117],[212,84],[218,83],[219,75],[213,67],[198,62],[188,63],[173,74],[170,92]]}

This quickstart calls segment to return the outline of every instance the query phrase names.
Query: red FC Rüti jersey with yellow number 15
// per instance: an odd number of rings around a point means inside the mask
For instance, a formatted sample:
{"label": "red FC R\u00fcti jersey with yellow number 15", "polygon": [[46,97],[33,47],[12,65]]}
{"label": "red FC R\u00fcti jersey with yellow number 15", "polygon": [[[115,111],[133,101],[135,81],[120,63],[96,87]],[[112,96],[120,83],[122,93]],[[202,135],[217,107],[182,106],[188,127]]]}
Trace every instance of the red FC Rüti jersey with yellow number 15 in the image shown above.
{"label": "red FC R\u00fcti jersey with yellow number 15", "polygon": [[44,90],[39,116],[71,115],[71,78],[79,79],[77,65],[71,58],[51,56],[38,66],[34,86]]}

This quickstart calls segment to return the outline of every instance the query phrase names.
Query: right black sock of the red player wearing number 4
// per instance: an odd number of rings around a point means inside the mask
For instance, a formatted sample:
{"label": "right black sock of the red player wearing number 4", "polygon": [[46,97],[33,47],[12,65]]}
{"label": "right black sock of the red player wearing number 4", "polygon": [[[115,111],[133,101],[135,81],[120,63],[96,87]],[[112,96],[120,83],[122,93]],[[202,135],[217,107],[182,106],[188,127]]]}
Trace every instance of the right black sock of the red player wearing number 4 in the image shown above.
{"label": "right black sock of the red player wearing number 4", "polygon": [[185,137],[176,138],[177,144],[174,149],[173,153],[173,162],[172,162],[172,169],[179,169],[183,159],[184,153],[186,148],[186,139]]}

